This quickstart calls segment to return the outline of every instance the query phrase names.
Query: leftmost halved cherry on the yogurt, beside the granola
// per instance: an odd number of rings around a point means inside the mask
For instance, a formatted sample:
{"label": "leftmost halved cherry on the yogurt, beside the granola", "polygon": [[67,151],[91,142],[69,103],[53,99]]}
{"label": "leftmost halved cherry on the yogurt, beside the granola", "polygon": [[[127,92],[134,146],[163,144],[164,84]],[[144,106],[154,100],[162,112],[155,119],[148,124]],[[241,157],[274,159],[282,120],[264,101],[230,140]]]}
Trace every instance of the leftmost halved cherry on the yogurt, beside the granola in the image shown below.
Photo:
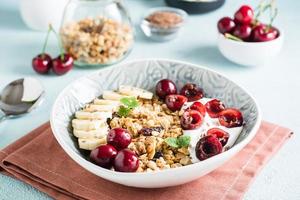
{"label": "leftmost halved cherry on the yogurt, beside the granola", "polygon": [[180,124],[184,130],[192,130],[201,126],[203,119],[197,110],[186,110],[180,118]]}

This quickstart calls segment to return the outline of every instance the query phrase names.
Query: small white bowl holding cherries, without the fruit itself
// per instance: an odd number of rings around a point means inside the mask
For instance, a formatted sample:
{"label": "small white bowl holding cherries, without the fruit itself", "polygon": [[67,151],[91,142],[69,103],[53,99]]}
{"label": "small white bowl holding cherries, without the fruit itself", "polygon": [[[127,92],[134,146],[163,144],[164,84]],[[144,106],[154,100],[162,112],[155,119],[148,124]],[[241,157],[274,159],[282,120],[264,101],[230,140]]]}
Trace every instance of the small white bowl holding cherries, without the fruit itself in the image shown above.
{"label": "small white bowl holding cherries, without the fruit itself", "polygon": [[219,34],[218,47],[230,61],[240,65],[258,66],[272,60],[281,50],[284,34],[268,42],[239,42]]}

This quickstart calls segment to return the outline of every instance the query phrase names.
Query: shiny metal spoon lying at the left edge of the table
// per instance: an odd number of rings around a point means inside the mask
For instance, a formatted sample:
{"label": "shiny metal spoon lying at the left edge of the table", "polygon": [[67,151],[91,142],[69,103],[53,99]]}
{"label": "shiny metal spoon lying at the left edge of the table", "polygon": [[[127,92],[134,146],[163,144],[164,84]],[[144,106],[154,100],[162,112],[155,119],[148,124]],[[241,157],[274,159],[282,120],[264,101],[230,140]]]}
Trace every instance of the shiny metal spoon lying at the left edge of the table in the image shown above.
{"label": "shiny metal spoon lying at the left edge of the table", "polygon": [[22,78],[9,83],[0,94],[0,121],[29,113],[42,103],[44,96],[44,88],[36,79]]}

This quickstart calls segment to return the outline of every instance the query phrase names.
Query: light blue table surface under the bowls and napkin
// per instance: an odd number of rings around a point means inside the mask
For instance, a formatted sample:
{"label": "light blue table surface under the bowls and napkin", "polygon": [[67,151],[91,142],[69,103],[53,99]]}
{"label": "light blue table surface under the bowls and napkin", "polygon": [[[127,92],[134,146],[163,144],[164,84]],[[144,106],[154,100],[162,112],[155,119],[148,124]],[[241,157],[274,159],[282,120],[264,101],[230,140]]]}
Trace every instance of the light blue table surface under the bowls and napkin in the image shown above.
{"label": "light blue table surface under the bowls and napkin", "polygon": [[[227,61],[217,49],[216,22],[232,15],[243,2],[230,0],[219,10],[190,16],[182,35],[167,43],[154,43],[138,31],[136,45],[126,60],[135,58],[169,58],[184,60],[217,70],[247,88],[258,100],[265,120],[287,126],[296,134],[265,166],[245,195],[245,199],[300,199],[300,1],[278,1],[276,25],[285,31],[280,55],[265,66],[243,67]],[[135,23],[150,7],[161,0],[127,0]],[[93,70],[75,68],[65,76],[41,76],[31,68],[31,59],[40,53],[45,33],[28,29],[21,20],[17,0],[0,0],[0,89],[10,81],[26,76],[41,80],[46,101],[31,114],[0,124],[0,148],[17,140],[49,120],[52,103],[72,80]],[[49,52],[57,54],[51,38]],[[38,153],[38,152],[37,152]],[[0,175],[0,199],[48,199],[29,185]]]}

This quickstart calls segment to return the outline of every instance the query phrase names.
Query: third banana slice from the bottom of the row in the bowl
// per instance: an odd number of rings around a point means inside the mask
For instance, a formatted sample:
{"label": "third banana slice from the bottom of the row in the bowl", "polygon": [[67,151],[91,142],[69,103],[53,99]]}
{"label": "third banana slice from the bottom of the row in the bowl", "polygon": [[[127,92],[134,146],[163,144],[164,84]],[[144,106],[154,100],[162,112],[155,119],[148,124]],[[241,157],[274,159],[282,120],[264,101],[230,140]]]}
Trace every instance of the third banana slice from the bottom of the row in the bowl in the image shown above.
{"label": "third banana slice from the bottom of the row in the bowl", "polygon": [[73,119],[72,127],[76,130],[91,131],[107,126],[106,120]]}

